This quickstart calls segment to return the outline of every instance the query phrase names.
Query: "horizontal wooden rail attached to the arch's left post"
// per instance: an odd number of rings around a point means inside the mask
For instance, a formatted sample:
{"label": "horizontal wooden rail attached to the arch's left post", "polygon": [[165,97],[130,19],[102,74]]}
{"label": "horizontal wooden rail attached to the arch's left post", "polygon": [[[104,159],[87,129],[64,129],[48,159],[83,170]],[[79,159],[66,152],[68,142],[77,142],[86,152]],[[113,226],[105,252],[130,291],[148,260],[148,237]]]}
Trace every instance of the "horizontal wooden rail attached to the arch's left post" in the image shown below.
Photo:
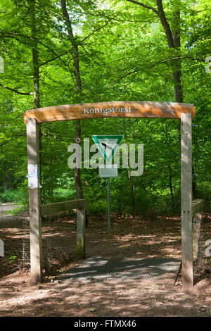
{"label": "horizontal wooden rail attached to the arch's left post", "polygon": [[56,202],[55,204],[43,204],[40,206],[41,216],[48,216],[61,211],[70,211],[71,209],[83,208],[87,206],[87,200],[72,200],[65,202]]}

